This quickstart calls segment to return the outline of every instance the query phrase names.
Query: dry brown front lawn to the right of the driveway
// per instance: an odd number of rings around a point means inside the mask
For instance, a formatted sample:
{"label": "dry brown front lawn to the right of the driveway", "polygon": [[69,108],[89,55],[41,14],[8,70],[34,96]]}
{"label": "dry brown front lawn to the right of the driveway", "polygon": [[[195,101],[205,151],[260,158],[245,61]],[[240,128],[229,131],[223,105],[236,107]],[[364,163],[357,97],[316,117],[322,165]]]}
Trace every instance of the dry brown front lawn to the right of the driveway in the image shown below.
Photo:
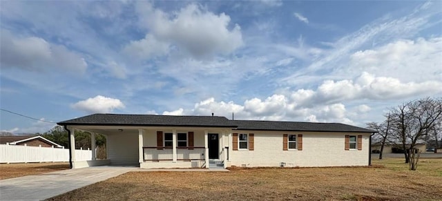
{"label": "dry brown front lawn to the right of the driveway", "polygon": [[442,160],[408,171],[401,159],[376,168],[129,172],[51,200],[441,200]]}

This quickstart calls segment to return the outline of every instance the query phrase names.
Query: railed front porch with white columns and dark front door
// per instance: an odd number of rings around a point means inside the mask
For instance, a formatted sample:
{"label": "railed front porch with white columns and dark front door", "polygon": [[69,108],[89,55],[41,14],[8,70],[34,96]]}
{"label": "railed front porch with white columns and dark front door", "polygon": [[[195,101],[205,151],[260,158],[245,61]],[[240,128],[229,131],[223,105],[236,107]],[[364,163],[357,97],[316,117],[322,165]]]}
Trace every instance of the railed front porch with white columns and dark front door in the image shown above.
{"label": "railed front porch with white columns and dark front door", "polygon": [[[229,131],[166,128],[160,131],[142,129],[140,132],[144,145],[142,169],[226,167]],[[220,166],[211,166],[214,160]]]}

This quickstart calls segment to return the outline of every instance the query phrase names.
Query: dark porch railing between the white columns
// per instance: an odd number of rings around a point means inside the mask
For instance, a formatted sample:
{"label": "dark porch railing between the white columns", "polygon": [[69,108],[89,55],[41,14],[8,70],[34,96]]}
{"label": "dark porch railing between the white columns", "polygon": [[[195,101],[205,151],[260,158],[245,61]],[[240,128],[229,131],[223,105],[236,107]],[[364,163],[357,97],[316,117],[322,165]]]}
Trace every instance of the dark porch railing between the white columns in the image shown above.
{"label": "dark porch railing between the white columns", "polygon": [[[170,146],[143,147],[144,161],[173,160],[173,149]],[[204,160],[204,146],[177,147],[177,160]]]}

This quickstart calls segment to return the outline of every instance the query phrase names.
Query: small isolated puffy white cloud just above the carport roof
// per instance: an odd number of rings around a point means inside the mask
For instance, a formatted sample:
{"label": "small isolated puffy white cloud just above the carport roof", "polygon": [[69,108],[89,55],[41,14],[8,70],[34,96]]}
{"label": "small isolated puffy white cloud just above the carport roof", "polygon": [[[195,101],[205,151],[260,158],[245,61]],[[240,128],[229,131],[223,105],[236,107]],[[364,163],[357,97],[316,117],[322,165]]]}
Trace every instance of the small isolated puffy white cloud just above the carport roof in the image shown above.
{"label": "small isolated puffy white cloud just above the carport roof", "polygon": [[97,95],[73,104],[73,108],[86,113],[110,113],[116,108],[124,108],[119,99]]}

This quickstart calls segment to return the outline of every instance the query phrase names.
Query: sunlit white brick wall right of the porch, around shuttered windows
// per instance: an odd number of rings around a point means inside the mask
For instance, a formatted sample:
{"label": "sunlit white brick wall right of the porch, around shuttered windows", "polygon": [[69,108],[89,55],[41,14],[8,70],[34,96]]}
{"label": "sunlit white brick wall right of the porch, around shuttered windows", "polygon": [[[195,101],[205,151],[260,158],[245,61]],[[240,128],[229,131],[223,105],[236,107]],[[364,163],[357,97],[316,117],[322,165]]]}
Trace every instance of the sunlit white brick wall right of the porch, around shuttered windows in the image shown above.
{"label": "sunlit white brick wall right of the porch, around shuttered windows", "polygon": [[[233,131],[254,133],[254,151],[229,147],[227,166],[367,166],[369,133]],[[302,151],[282,150],[283,134],[302,134]],[[362,150],[345,150],[345,135],[363,135]]]}

